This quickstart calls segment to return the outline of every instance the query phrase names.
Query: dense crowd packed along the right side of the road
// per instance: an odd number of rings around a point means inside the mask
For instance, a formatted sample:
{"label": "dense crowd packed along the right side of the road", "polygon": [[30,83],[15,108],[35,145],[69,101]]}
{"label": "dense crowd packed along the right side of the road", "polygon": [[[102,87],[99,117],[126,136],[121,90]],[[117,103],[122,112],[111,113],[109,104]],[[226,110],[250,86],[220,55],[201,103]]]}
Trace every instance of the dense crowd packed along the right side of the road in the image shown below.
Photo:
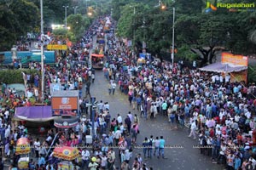
{"label": "dense crowd packed along the right side of the road", "polygon": [[151,57],[137,63],[131,48],[118,39],[108,40],[112,42],[119,45],[109,51],[104,75],[110,84],[118,83],[133,109],[145,119],[163,115],[171,126],[189,126],[189,138],[199,140],[201,153],[211,156],[212,163],[255,168],[254,83],[231,82],[230,73],[191,70],[182,64],[172,68]]}

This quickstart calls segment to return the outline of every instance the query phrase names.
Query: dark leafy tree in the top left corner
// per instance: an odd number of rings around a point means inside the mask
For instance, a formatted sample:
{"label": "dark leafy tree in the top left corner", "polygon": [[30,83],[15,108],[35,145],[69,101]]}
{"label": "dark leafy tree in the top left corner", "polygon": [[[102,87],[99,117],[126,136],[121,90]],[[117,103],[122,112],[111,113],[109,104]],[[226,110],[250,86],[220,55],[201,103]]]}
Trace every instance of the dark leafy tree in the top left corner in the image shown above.
{"label": "dark leafy tree in the top left corner", "polygon": [[38,8],[33,3],[26,0],[0,2],[1,50],[9,50],[20,36],[25,36],[27,31],[37,27]]}

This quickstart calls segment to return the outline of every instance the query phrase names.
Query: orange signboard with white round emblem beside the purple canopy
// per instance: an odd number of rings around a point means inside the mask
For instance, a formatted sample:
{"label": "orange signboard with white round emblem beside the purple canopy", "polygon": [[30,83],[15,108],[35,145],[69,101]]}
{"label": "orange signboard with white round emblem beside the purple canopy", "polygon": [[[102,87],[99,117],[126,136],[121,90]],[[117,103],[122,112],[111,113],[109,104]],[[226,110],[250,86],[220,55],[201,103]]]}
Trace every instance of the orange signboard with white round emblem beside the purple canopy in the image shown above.
{"label": "orange signboard with white round emblem beside the purple canopy", "polygon": [[77,97],[52,97],[53,110],[78,110]]}

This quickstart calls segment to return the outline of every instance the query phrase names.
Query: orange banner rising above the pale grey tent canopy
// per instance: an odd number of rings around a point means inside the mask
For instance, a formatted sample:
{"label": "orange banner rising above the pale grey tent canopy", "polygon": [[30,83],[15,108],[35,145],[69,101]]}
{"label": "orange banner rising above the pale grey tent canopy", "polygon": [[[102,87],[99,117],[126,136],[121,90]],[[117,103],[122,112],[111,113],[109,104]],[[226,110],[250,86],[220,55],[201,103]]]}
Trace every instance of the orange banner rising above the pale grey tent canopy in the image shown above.
{"label": "orange banner rising above the pale grey tent canopy", "polygon": [[221,54],[221,63],[222,64],[247,66],[248,65],[248,58],[247,58],[247,56],[242,56],[242,55],[222,53]]}

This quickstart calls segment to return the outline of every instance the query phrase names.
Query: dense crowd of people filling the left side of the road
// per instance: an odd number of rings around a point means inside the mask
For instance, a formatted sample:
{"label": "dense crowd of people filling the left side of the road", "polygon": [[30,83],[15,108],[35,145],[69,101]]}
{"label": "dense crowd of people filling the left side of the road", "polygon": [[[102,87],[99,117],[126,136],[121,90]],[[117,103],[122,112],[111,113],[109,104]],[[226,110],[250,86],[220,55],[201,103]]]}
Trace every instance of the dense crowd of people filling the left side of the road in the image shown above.
{"label": "dense crowd of people filling the left side of the road", "polygon": [[[122,118],[118,115],[112,118],[109,113],[108,102],[103,103],[101,101],[97,105],[95,118],[97,135],[92,142],[92,147],[84,147],[84,144],[90,144],[86,141],[86,135],[91,134],[92,122],[87,116],[88,106],[86,104],[90,102],[90,83],[93,83],[95,78],[94,71],[88,65],[90,48],[92,48],[92,45],[88,46],[88,44],[92,44],[93,37],[96,35],[98,27],[101,26],[99,23],[102,20],[104,18],[96,20],[86,31],[81,41],[75,44],[68,54],[62,52],[57,58],[54,68],[49,65],[44,67],[45,105],[51,105],[51,84],[60,84],[59,90],[79,90],[80,120],[76,127],[67,130],[41,127],[40,130],[43,129],[47,133],[46,138],[44,135],[35,138],[30,129],[26,127],[26,121],[16,122],[13,120],[13,116],[15,107],[32,106],[41,99],[40,77],[37,74],[29,75],[22,72],[21,76],[23,76],[26,87],[24,95],[18,94],[15,88],[7,88],[6,84],[2,83],[0,130],[1,146],[3,146],[1,156],[4,159],[0,163],[1,169],[3,169],[4,161],[11,163],[9,169],[17,168],[20,155],[15,154],[15,145],[20,138],[27,138],[30,141],[31,159],[28,163],[28,169],[57,169],[56,165],[61,159],[53,156],[53,151],[49,150],[54,139],[55,146],[66,145],[79,149],[80,156],[72,163],[82,169],[118,169],[116,164],[119,164],[119,168],[124,170],[130,168],[148,169],[140,154],[135,156],[135,160],[131,160],[132,146],[136,144],[137,133],[139,133],[138,116],[132,115],[130,112],[127,117]],[[108,37],[113,37],[113,32],[109,33]],[[86,49],[84,50],[84,48]],[[106,53],[108,54],[108,51]],[[39,71],[41,70],[40,67],[41,65],[35,62],[29,64],[30,69],[38,69]],[[82,95],[83,87],[85,87],[86,96]],[[113,90],[112,94],[114,94]],[[55,136],[56,133],[58,133],[57,136]],[[115,156],[116,153],[119,157]],[[117,163],[118,160],[119,163]]]}

